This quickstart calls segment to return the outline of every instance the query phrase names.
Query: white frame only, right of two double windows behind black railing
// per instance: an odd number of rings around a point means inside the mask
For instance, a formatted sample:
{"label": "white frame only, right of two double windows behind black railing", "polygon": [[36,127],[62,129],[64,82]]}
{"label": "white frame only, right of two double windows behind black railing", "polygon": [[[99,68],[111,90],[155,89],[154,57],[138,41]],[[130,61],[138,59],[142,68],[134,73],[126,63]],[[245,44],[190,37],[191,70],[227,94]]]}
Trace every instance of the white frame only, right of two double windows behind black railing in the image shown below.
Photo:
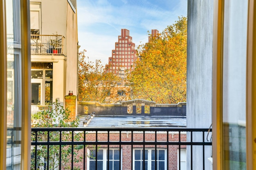
{"label": "white frame only, right of two double windows behind black railing", "polygon": [[[135,150],[140,150],[141,153],[143,153],[143,148],[134,148],[133,149],[133,152],[132,152],[132,170],[135,170]],[[151,170],[151,151],[152,150],[155,150],[155,148],[145,148],[145,150],[148,151],[148,167],[147,169],[148,170]],[[157,151],[159,150],[164,150],[164,160],[158,160],[158,155],[157,155],[157,170],[158,170],[158,162],[159,161],[164,161],[164,170],[167,170],[167,149],[166,148],[156,148]],[[159,152],[157,152],[158,154]],[[138,159],[139,160],[139,159]],[[141,163],[143,163],[143,157],[141,156],[141,159],[140,159]],[[145,160],[146,161],[146,160]],[[155,161],[155,160],[153,160]],[[142,165],[142,164],[141,164]],[[142,166],[140,167],[140,170],[142,170]],[[146,167],[145,167],[146,169]]]}

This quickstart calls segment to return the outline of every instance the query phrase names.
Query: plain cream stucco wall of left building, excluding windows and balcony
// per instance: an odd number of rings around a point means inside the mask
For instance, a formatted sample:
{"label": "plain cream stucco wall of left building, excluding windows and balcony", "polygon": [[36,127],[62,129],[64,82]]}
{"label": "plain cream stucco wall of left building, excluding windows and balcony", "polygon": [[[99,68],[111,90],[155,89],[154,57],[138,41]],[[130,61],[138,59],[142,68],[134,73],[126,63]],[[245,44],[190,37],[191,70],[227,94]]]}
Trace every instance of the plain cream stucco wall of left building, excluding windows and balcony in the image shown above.
{"label": "plain cream stucco wall of left building, excluding windows and balcony", "polygon": [[31,0],[40,3],[40,34],[63,35],[63,55],[33,55],[32,62],[53,62],[53,101],[65,104],[69,91],[77,95],[77,14],[67,0]]}

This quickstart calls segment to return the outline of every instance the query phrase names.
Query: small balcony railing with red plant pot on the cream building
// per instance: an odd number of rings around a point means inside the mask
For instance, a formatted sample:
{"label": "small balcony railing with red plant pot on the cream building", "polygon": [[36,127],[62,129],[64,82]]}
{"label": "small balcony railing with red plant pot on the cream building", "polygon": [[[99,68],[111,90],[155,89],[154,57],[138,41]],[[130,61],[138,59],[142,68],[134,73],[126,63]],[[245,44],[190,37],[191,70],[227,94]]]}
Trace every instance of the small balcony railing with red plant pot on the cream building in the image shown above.
{"label": "small balcony railing with red plant pot on the cream building", "polygon": [[63,35],[30,35],[31,54],[65,54]]}

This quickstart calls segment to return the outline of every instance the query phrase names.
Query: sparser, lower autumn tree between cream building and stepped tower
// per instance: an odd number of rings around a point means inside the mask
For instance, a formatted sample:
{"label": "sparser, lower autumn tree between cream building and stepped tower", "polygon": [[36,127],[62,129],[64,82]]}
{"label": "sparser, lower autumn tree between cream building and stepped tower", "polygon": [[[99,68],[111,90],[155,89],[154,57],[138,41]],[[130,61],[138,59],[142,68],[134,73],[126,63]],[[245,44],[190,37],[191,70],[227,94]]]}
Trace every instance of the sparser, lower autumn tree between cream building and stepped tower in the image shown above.
{"label": "sparser, lower autumn tree between cream building and stepped tower", "polygon": [[117,74],[105,71],[100,60],[96,64],[89,61],[85,50],[79,53],[79,101],[117,103],[130,99],[130,87],[118,86],[119,82],[126,84]]}

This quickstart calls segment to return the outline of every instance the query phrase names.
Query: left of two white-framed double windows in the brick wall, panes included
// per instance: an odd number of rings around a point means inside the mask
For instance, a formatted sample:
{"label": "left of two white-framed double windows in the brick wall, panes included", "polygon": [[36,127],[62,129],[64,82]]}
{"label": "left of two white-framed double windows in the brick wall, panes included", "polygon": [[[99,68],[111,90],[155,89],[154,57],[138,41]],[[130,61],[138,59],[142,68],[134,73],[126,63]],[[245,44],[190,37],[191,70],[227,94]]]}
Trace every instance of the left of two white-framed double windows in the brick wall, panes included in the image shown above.
{"label": "left of two white-framed double windows in the brick wall, panes included", "polygon": [[[88,150],[90,156],[87,161],[87,170],[96,169],[96,151]],[[121,154],[122,155],[122,154]],[[122,159],[119,159],[119,149],[110,149],[109,150],[109,170],[121,170],[119,167],[119,162]],[[97,152],[97,170],[107,170],[108,165],[108,149],[99,149]],[[122,162],[121,162],[122,163]],[[121,166],[122,167],[122,166]]]}

